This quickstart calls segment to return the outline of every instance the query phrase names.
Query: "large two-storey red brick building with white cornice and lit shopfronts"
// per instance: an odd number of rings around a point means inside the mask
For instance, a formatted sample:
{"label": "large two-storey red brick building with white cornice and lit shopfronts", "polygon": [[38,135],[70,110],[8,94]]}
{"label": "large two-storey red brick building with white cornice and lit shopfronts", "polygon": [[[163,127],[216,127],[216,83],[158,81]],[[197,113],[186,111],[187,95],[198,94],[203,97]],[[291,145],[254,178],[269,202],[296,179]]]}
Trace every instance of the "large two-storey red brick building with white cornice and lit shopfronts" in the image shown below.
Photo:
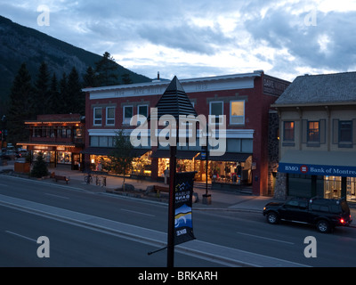
{"label": "large two-storey red brick building with white cornice and lit shopfronts", "polygon": [[[226,152],[209,157],[208,179],[215,186],[239,188],[252,184],[253,193],[263,195],[268,188],[269,110],[290,83],[252,73],[218,77],[180,79],[182,87],[198,114],[226,116]],[[136,126],[130,119],[137,114],[148,117],[164,94],[168,80],[150,83],[85,88],[85,163],[94,170],[105,169],[117,130],[130,135]],[[209,124],[218,124],[215,121]],[[141,147],[136,150],[132,175],[148,175],[163,180],[169,165],[168,147]],[[197,171],[196,179],[205,181],[206,161],[200,146],[177,147],[177,170]]]}

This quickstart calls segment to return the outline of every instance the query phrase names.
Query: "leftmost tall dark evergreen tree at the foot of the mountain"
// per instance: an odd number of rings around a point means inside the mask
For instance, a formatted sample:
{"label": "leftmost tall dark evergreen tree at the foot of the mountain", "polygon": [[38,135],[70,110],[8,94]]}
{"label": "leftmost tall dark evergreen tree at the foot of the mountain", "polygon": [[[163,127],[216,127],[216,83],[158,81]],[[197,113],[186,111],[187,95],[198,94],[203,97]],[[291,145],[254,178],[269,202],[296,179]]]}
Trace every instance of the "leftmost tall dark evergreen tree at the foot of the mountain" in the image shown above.
{"label": "leftmost tall dark evergreen tree at the foot of the mountain", "polygon": [[32,94],[31,76],[28,73],[26,63],[22,63],[13,80],[10,94],[10,106],[7,116],[8,142],[14,144],[28,140],[28,130],[24,121],[31,119],[29,99]]}

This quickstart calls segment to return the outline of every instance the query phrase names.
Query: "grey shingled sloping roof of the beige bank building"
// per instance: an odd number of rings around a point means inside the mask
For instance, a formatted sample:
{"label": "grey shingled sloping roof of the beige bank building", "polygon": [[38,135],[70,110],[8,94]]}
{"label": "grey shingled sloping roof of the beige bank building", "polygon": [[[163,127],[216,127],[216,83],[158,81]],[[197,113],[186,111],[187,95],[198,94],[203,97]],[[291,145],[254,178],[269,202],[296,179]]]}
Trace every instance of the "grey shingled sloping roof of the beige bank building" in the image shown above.
{"label": "grey shingled sloping roof of the beige bank building", "polygon": [[296,77],[273,104],[356,102],[356,72]]}

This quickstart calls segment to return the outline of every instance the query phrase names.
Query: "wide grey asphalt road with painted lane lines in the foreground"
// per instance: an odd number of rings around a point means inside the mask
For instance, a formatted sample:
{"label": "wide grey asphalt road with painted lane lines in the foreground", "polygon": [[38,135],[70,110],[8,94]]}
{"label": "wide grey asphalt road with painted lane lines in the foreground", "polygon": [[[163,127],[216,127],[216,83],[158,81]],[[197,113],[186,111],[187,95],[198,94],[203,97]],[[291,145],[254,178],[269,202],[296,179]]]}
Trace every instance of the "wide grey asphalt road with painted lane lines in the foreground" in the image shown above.
{"label": "wide grey asphalt road with painted lane lines in the foreground", "polygon": [[[0,207],[1,266],[166,266],[166,250],[147,255],[166,242],[165,204],[4,175],[0,201],[12,204]],[[267,224],[261,214],[198,209],[193,227],[197,240],[176,247],[176,266],[356,265],[355,228],[321,234]],[[49,258],[36,256],[43,235]],[[304,256],[308,236],[317,241],[317,257]]]}

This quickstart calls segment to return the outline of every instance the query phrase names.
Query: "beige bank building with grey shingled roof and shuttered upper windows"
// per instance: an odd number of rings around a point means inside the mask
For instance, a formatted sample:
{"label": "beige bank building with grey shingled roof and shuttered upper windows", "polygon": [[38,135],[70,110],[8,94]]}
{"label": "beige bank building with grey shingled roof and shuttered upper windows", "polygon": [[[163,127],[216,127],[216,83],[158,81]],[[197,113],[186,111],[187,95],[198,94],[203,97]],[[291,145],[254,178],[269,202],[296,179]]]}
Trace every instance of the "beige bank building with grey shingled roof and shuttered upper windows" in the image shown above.
{"label": "beige bank building with grey shingled roof and shuttered upper windows", "polygon": [[279,113],[274,196],[356,202],[356,72],[296,77]]}

